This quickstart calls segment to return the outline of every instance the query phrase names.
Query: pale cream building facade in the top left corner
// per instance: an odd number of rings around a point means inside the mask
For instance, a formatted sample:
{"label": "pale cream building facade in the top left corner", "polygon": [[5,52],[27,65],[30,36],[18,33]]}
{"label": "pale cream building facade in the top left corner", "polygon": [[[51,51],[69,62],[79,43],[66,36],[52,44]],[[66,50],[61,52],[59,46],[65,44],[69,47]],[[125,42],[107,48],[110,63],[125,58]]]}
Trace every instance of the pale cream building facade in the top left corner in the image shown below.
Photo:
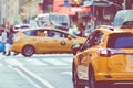
{"label": "pale cream building facade in the top left corner", "polygon": [[19,0],[0,0],[0,24],[14,24],[19,14]]}

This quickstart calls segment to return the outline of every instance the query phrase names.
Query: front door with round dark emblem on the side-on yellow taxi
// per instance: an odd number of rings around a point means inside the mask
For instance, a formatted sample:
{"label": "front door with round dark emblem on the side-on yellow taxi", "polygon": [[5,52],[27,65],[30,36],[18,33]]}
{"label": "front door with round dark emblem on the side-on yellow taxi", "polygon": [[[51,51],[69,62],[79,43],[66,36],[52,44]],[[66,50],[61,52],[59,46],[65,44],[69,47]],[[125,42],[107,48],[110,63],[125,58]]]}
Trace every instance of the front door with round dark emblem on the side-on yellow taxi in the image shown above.
{"label": "front door with round dark emblem on the side-on yellow taxi", "polygon": [[53,52],[57,53],[69,53],[72,52],[71,45],[73,44],[72,38],[68,37],[68,34],[59,31],[53,32],[53,36],[51,37]]}

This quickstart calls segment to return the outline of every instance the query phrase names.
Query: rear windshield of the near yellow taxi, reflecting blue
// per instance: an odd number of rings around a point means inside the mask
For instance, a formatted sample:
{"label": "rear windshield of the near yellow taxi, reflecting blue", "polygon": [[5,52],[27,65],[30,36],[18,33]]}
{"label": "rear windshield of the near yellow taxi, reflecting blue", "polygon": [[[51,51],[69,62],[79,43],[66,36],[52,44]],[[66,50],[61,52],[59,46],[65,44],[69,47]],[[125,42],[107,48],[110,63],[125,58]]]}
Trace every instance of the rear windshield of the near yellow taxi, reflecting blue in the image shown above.
{"label": "rear windshield of the near yellow taxi, reflecting blue", "polygon": [[133,34],[115,33],[111,34],[108,42],[109,48],[133,48]]}

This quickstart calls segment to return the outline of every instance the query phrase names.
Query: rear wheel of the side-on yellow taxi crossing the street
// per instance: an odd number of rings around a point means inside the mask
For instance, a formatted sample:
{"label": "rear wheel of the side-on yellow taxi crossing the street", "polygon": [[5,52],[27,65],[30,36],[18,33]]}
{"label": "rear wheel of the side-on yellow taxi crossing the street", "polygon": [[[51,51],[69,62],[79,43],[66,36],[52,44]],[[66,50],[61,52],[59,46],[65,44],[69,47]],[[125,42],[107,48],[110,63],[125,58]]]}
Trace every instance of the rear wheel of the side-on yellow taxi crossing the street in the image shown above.
{"label": "rear wheel of the side-on yellow taxi crossing the street", "polygon": [[22,48],[22,55],[25,57],[31,57],[34,54],[34,47],[32,45],[25,45]]}

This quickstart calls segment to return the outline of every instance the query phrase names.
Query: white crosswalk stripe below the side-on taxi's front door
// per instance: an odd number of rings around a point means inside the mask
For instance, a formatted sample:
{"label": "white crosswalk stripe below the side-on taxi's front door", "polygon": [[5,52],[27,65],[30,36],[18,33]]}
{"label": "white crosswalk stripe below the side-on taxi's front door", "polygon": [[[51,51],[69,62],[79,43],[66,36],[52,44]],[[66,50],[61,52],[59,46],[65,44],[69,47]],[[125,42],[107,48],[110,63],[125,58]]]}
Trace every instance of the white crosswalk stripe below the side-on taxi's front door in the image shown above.
{"label": "white crosswalk stripe below the side-on taxi's front door", "polygon": [[57,59],[49,58],[49,59],[42,59],[42,61],[48,62],[48,63],[53,64],[53,65],[69,65],[68,63],[64,63],[58,58]]}

